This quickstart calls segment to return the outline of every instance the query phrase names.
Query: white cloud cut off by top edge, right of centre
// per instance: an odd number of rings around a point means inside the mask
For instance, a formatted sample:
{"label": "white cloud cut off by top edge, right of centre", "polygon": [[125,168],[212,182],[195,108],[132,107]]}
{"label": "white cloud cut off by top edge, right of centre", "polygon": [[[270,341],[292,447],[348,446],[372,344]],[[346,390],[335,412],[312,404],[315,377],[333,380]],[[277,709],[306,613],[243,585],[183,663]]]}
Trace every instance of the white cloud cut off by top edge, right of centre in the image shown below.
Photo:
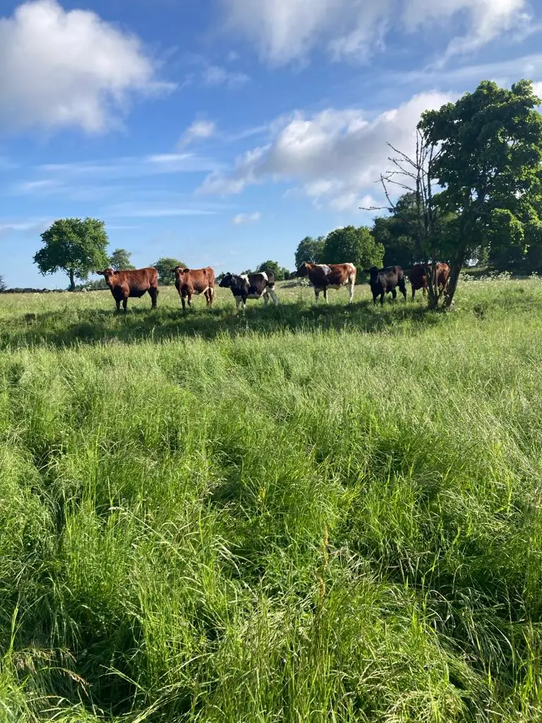
{"label": "white cloud cut off by top edge, right of centre", "polygon": [[326,48],[335,59],[363,59],[389,30],[418,30],[454,16],[468,30],[451,41],[447,54],[471,51],[501,33],[525,26],[527,0],[222,0],[232,27],[257,46],[271,64],[304,59]]}

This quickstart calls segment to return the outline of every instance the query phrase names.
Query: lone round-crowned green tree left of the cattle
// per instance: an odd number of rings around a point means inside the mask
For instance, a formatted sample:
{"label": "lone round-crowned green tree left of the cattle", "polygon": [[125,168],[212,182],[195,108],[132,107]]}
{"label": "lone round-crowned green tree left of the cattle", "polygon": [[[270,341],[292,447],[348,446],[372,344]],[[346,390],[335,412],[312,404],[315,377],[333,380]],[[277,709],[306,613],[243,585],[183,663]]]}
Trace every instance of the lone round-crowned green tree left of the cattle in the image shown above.
{"label": "lone round-crowned green tree left of the cattle", "polygon": [[63,270],[69,277],[69,288],[75,279],[86,281],[93,269],[108,265],[106,247],[109,243],[103,221],[98,218],[61,218],[41,234],[43,248],[34,256],[40,273]]}

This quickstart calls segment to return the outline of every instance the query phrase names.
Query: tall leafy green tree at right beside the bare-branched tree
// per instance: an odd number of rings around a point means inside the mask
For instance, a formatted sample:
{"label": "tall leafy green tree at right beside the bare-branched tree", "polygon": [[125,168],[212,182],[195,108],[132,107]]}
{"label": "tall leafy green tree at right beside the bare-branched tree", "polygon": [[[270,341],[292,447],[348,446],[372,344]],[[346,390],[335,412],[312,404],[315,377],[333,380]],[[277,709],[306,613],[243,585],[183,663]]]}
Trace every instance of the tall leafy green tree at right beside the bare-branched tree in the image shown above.
{"label": "tall leafy green tree at right beside the bare-branched tree", "polygon": [[[539,223],[542,190],[540,99],[528,80],[507,88],[483,80],[474,93],[436,111],[418,124],[423,141],[438,149],[431,177],[443,189],[432,205],[457,216],[451,248],[449,288],[452,303],[463,262],[472,247],[520,244],[525,229]],[[527,249],[528,250],[528,249]]]}

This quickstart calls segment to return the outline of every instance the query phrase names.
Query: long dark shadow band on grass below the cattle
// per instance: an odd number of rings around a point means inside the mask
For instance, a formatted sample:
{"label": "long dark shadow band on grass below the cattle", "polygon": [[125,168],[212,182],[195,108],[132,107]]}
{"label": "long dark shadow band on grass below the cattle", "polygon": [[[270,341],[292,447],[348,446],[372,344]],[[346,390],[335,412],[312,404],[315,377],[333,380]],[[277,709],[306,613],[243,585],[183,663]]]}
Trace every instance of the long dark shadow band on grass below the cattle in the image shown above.
{"label": "long dark shadow band on grass below the cattle", "polygon": [[44,312],[27,325],[20,317],[4,325],[0,348],[26,345],[74,346],[106,341],[163,341],[171,338],[200,336],[205,339],[220,335],[292,333],[315,330],[350,330],[360,333],[400,331],[406,327],[425,328],[439,321],[439,315],[422,304],[397,301],[373,307],[370,301],[343,304],[282,304],[258,307],[254,304],[246,314],[236,315],[232,307],[211,310],[197,309],[183,313],[178,309],[132,309],[117,315],[108,309],[74,309]]}

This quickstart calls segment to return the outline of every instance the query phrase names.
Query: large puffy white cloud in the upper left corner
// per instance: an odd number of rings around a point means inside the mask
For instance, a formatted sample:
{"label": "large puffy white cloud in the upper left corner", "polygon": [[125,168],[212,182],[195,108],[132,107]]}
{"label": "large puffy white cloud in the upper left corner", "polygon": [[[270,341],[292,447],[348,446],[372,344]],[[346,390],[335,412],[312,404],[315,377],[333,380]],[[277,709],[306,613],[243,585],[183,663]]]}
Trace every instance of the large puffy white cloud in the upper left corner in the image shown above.
{"label": "large puffy white cloud in the upper left corner", "polygon": [[133,93],[165,90],[133,35],[94,12],[56,0],[20,5],[0,18],[0,119],[10,129],[118,124]]}

